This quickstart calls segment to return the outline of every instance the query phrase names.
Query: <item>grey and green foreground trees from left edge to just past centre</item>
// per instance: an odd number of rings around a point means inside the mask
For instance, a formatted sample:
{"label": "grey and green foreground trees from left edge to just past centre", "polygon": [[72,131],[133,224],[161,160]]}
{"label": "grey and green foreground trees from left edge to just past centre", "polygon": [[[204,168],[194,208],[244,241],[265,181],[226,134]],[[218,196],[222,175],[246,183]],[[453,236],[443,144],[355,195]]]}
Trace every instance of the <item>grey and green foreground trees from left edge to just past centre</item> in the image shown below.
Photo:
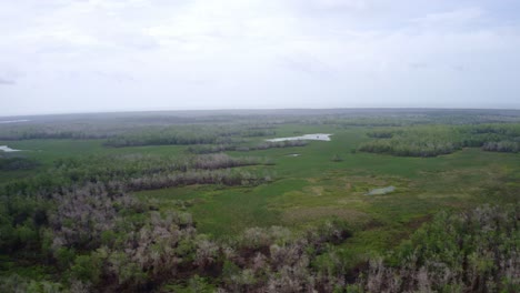
{"label": "grey and green foreground trees from left edge to just past centre", "polygon": [[2,223],[0,249],[44,260],[59,272],[61,284],[12,275],[0,279],[8,291],[152,291],[182,287],[186,280],[206,282],[199,276],[221,292],[327,292],[344,284],[343,265],[330,246],[350,236],[344,222],[329,221],[302,234],[252,228],[216,242],[197,232],[190,214],[157,212],[103,184],[32,202],[32,208],[11,206],[23,214],[11,213],[12,233],[3,233],[8,224]]}

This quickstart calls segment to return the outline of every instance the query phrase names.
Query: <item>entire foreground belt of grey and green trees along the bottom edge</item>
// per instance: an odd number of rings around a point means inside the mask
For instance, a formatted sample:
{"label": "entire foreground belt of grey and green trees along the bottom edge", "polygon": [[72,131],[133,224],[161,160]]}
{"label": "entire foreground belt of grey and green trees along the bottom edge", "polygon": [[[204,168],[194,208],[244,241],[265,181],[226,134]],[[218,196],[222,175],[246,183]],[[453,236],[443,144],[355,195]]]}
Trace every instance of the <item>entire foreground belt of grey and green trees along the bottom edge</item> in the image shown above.
{"label": "entire foreground belt of grey and green trees along the bottom edge", "polygon": [[[160,213],[118,190],[88,184],[19,209],[1,246],[54,267],[57,277],[0,277],[4,292],[517,292],[520,206],[439,213],[351,283],[342,221],[302,232],[251,228],[214,241],[191,215]],[[4,214],[4,213],[2,213]],[[6,219],[2,219],[4,222]],[[10,240],[9,238],[14,238]],[[362,267],[362,266],[361,266]],[[191,291],[190,291],[191,290]]]}

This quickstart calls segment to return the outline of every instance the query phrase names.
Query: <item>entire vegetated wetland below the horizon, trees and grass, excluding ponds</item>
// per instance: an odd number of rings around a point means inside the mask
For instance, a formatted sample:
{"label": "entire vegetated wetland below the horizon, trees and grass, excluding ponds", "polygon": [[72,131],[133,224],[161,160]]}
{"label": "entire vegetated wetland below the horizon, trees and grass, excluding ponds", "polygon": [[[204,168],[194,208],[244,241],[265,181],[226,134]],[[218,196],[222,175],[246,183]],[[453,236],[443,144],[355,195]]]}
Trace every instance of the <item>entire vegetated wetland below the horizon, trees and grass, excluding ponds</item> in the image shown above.
{"label": "entire vegetated wetland below the horizon, trees and grass, excluding ponds", "polygon": [[38,119],[0,125],[2,292],[518,291],[520,112]]}

